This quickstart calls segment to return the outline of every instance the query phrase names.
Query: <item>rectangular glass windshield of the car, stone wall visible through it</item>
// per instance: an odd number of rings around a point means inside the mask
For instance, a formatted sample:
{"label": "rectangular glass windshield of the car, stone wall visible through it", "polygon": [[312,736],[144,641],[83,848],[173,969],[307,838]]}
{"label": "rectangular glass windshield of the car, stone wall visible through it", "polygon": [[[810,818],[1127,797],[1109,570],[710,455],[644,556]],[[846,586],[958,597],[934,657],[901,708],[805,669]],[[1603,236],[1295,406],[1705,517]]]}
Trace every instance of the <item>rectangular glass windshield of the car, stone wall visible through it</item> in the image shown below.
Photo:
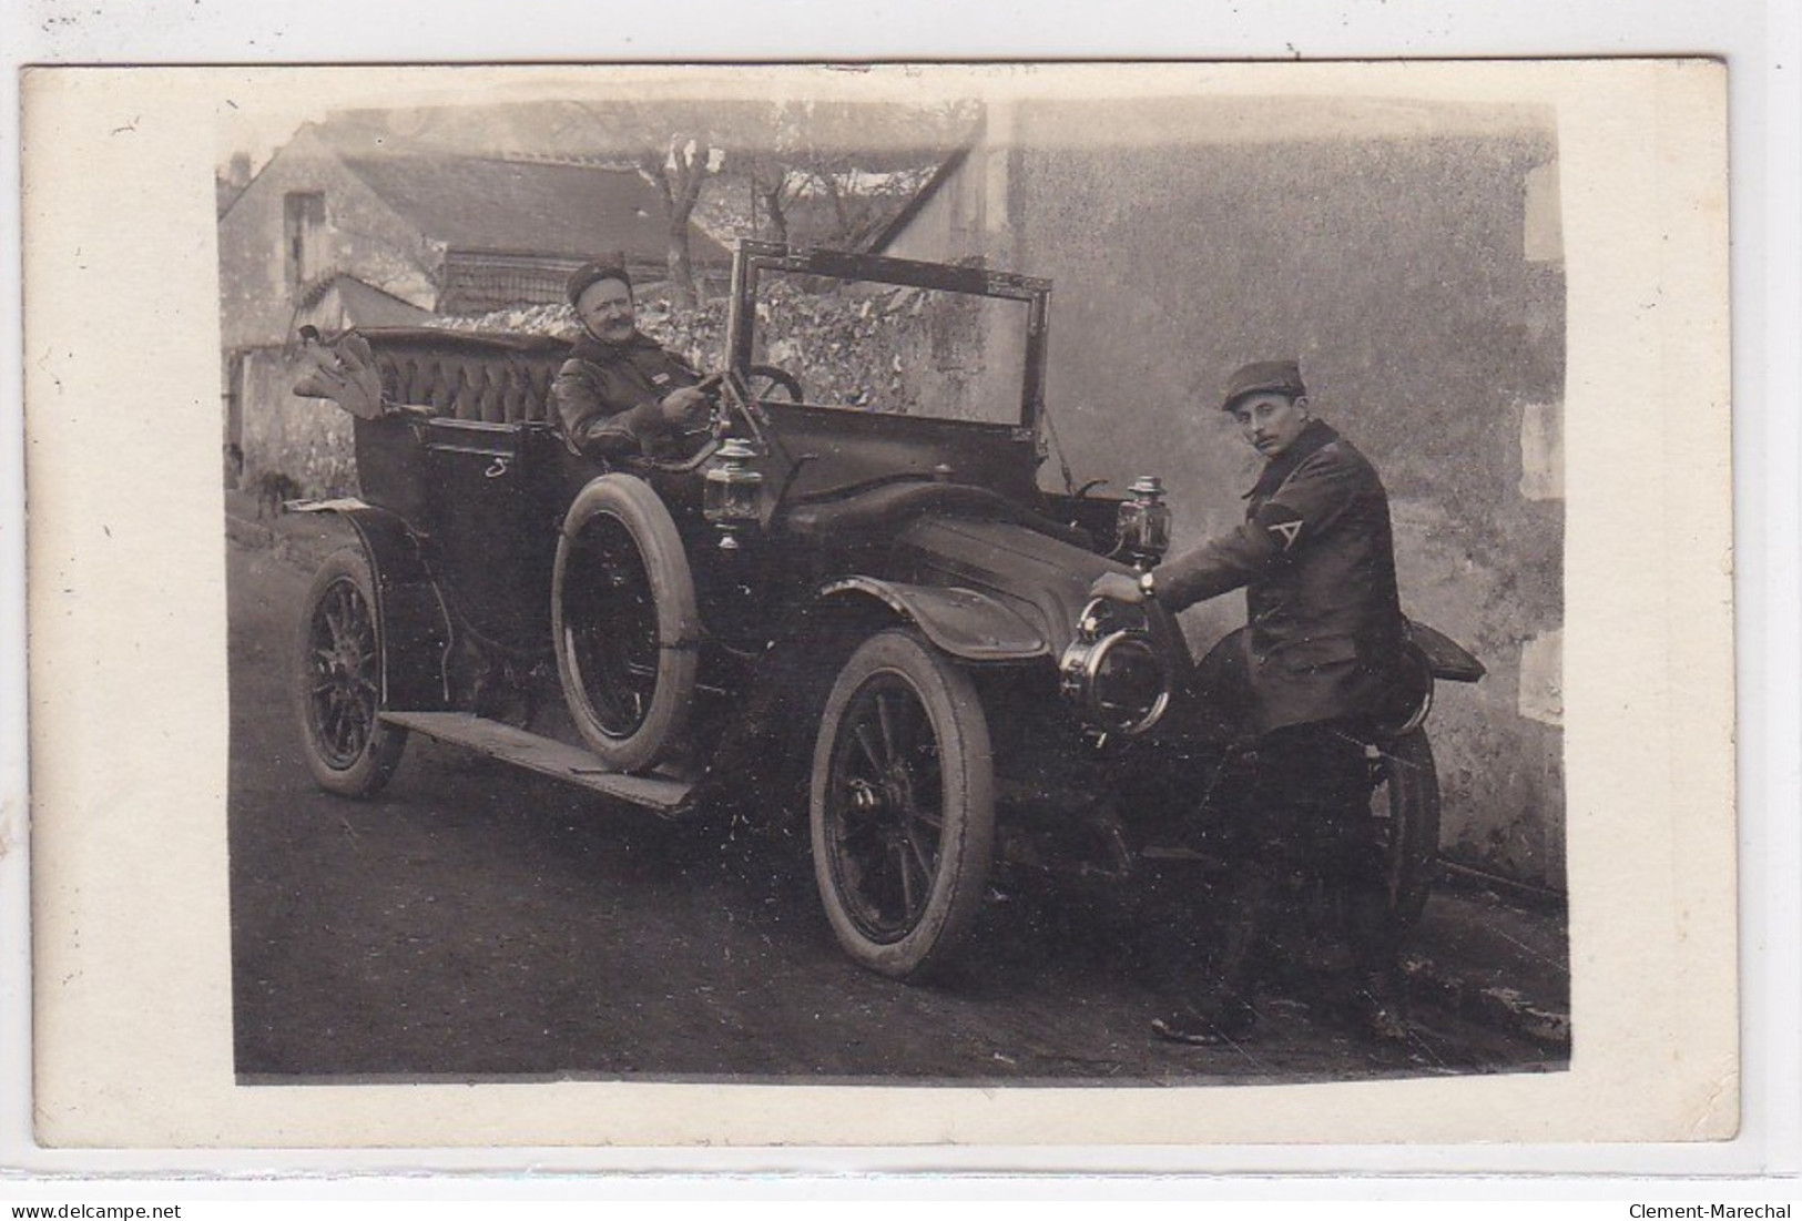
{"label": "rectangular glass windshield of the car, stone wall visible through it", "polygon": [[807,405],[1024,423],[1029,301],[766,267],[753,319],[751,364]]}

